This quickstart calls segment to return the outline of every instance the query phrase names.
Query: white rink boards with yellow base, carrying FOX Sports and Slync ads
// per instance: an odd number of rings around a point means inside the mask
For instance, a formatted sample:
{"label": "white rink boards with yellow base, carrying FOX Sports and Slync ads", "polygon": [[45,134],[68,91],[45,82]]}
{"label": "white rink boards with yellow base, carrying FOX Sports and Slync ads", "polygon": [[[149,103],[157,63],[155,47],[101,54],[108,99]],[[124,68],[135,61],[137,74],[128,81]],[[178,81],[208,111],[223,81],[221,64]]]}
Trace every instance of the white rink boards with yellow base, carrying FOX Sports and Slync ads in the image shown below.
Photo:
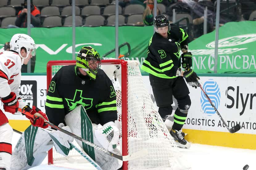
{"label": "white rink boards with yellow base, carrying FOX Sports and Slync ads", "polygon": [[[203,89],[227,125],[230,127],[238,123],[242,128],[234,134],[229,133],[201,89],[188,86],[191,107],[183,127],[188,133],[186,138],[192,143],[256,149],[256,74],[199,74],[199,77]],[[20,95],[23,100],[45,112],[46,75],[22,74],[21,79]],[[142,79],[155,103],[148,75]],[[177,101],[173,101],[175,110]],[[16,130],[24,131],[30,124],[25,116],[5,114]]]}

